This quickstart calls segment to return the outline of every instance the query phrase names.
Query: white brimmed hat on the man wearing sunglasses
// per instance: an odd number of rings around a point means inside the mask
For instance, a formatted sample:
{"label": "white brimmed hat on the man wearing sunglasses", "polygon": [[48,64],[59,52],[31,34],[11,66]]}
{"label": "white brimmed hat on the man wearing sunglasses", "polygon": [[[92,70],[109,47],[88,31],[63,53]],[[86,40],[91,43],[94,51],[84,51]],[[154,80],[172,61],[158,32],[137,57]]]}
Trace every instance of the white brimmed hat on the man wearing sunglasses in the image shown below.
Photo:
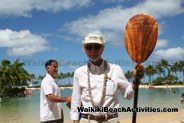
{"label": "white brimmed hat on the man wearing sunglasses", "polygon": [[89,44],[89,43],[97,43],[97,44],[105,45],[105,41],[102,35],[92,34],[92,33],[87,34],[84,40],[82,41],[83,45]]}

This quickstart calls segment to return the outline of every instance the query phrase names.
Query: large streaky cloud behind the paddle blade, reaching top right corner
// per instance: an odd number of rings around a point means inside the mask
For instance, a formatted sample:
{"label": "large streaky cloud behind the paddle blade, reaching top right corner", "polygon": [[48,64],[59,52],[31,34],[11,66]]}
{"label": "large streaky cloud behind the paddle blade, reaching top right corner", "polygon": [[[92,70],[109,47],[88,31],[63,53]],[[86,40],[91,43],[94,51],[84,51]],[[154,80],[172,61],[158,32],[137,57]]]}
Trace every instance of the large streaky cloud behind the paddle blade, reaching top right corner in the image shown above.
{"label": "large streaky cloud behind the paddle blade, reaching top right corner", "polygon": [[[62,27],[62,30],[64,29],[80,37],[84,37],[86,33],[91,31],[99,30],[105,38],[108,37],[106,40],[111,41],[110,43],[122,44],[125,25],[133,15],[148,13],[159,20],[162,17],[183,13],[183,3],[183,0],[146,0],[130,8],[122,6],[108,8],[101,10],[95,16],[89,15],[69,22]],[[161,25],[159,27],[163,28]],[[111,33],[114,34],[108,36]]]}

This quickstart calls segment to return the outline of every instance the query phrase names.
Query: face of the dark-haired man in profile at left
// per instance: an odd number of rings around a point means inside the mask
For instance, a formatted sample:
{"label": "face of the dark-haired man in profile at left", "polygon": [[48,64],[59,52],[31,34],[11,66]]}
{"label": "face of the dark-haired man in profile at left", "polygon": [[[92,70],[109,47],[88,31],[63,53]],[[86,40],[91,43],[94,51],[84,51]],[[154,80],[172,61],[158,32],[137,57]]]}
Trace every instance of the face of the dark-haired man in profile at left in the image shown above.
{"label": "face of the dark-haired man in profile at left", "polygon": [[57,76],[58,73],[58,64],[57,62],[52,62],[51,65],[47,66],[47,72],[50,74],[53,78]]}

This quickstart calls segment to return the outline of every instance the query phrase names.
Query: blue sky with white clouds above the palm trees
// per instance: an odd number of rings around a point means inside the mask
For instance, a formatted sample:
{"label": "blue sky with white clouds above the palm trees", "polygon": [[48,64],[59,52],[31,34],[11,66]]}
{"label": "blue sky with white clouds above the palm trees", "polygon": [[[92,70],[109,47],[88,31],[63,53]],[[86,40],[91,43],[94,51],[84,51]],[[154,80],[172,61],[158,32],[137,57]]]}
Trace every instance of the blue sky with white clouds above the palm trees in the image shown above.
{"label": "blue sky with white clouds above the palm trees", "polygon": [[74,72],[88,61],[82,40],[100,33],[106,41],[102,57],[132,71],[124,31],[142,13],[159,26],[156,47],[143,64],[183,60],[183,0],[0,0],[0,60],[19,59],[36,76],[46,73],[49,59],[59,62],[59,73]]}

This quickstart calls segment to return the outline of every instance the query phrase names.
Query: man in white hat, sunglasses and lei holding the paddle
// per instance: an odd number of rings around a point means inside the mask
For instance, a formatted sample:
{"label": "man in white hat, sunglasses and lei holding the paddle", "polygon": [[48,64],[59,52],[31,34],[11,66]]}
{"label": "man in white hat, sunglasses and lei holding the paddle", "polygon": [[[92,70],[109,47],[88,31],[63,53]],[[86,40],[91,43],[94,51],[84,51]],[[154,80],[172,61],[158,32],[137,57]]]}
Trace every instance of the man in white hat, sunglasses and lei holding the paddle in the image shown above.
{"label": "man in white hat, sunglasses and lei holding the paddle", "polygon": [[[124,98],[131,99],[134,84],[127,81],[120,66],[107,63],[101,57],[105,48],[101,35],[88,34],[82,46],[89,62],[74,73],[71,119],[74,123],[79,120],[80,123],[119,123],[115,111],[119,108],[117,92],[119,90]],[[142,78],[143,66],[139,71]]]}

